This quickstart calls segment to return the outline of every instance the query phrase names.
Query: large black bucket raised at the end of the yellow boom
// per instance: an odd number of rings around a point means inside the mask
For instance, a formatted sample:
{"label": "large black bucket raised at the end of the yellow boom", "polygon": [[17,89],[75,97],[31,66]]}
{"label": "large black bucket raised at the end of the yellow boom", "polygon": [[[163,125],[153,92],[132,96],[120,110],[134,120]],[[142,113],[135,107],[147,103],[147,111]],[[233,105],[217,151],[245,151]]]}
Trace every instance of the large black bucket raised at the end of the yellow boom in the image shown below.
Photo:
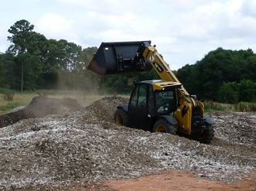
{"label": "large black bucket raised at the end of the yellow boom", "polygon": [[143,52],[150,41],[102,43],[87,69],[101,75],[150,70]]}

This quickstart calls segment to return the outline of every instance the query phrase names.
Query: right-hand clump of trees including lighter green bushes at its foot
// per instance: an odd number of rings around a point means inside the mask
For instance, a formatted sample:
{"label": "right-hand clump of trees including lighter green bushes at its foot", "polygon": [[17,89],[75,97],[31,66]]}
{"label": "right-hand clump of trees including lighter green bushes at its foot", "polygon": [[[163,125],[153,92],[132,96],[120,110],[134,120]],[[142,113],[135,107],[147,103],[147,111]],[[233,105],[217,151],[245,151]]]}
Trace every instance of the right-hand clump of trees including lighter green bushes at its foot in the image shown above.
{"label": "right-hand clump of trees including lighter green bushes at its foot", "polygon": [[218,48],[177,71],[178,79],[190,94],[229,104],[255,102],[255,74],[256,55],[252,49]]}

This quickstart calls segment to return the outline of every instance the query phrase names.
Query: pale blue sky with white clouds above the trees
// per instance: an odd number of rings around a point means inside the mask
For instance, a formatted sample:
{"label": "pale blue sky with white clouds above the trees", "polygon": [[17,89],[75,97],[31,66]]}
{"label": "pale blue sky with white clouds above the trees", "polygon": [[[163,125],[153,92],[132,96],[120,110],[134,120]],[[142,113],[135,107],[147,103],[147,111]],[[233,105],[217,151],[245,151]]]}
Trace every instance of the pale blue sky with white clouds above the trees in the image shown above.
{"label": "pale blue sky with white clouds above the trees", "polygon": [[151,40],[172,70],[209,51],[256,53],[256,0],[0,0],[0,53],[25,19],[47,39],[83,49],[102,42]]}

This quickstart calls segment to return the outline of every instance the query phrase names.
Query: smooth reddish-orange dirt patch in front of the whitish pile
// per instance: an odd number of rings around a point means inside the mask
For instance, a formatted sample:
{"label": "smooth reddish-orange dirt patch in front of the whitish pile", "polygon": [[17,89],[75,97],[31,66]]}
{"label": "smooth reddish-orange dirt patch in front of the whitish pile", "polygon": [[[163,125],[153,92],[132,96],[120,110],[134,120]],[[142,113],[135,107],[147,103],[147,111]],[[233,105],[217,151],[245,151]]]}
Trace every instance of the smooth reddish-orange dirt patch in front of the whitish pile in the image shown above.
{"label": "smooth reddish-orange dirt patch in front of the whitish pile", "polygon": [[107,181],[110,188],[120,191],[205,191],[205,190],[254,190],[255,178],[234,182],[221,182],[195,177],[191,172],[168,171],[138,179]]}

